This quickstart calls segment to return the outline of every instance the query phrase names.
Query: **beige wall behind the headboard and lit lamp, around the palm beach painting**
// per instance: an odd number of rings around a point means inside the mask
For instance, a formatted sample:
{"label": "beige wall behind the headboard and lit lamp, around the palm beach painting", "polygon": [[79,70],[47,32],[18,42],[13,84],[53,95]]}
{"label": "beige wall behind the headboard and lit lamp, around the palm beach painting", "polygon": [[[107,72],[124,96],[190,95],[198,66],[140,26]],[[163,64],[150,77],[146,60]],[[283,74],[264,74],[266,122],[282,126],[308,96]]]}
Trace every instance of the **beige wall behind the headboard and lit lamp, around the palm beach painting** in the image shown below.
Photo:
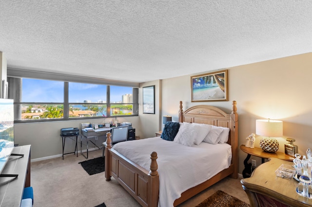
{"label": "beige wall behind the headboard and lit lamp, around the palm beach painting", "polygon": [[[204,73],[204,72],[203,72]],[[162,116],[178,119],[179,101],[183,109],[197,104],[210,104],[231,112],[232,101],[237,101],[239,145],[255,133],[255,120],[276,119],[283,121],[283,138],[279,150],[284,152],[286,138],[294,138],[299,153],[305,155],[312,149],[312,53],[279,58],[244,66],[228,68],[228,102],[191,102],[191,76],[162,80]],[[255,146],[261,137],[256,136]],[[243,170],[246,153],[239,150],[239,173]],[[260,158],[257,164],[261,163]]]}

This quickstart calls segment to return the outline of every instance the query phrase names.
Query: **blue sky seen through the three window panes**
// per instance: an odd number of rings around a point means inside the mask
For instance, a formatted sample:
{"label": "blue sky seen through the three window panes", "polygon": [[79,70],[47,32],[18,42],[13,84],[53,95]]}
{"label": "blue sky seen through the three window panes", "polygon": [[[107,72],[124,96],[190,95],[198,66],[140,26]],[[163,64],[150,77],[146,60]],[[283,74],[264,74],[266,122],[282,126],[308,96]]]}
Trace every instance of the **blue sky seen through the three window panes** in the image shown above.
{"label": "blue sky seen through the three window panes", "polygon": [[[132,94],[132,87],[111,86],[111,102],[121,101],[122,95]],[[22,80],[22,102],[63,102],[64,82],[39,79]],[[69,102],[96,103],[106,101],[106,86],[95,84],[69,83]]]}

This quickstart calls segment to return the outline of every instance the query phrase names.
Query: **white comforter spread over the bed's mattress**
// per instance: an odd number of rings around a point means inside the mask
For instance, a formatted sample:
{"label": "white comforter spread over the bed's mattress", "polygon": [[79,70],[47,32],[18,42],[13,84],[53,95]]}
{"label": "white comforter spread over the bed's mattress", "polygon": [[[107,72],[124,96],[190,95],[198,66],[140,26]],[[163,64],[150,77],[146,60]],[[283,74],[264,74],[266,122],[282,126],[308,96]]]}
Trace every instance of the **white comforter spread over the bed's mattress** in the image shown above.
{"label": "white comforter spread over the bed's mattress", "polygon": [[150,154],[157,153],[158,207],[172,207],[181,193],[210,179],[231,165],[229,144],[202,142],[188,147],[160,137],[120,142],[113,149],[150,171]]}

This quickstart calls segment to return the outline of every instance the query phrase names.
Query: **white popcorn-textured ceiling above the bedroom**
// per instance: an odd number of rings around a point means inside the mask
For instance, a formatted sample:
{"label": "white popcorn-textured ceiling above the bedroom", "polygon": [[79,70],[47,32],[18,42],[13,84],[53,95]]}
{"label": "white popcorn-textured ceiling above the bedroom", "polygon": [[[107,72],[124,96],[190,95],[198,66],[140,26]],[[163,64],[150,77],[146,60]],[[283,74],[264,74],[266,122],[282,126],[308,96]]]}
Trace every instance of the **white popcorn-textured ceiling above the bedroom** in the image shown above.
{"label": "white popcorn-textured ceiling above the bedroom", "polygon": [[311,0],[0,0],[9,68],[146,82],[312,52]]}

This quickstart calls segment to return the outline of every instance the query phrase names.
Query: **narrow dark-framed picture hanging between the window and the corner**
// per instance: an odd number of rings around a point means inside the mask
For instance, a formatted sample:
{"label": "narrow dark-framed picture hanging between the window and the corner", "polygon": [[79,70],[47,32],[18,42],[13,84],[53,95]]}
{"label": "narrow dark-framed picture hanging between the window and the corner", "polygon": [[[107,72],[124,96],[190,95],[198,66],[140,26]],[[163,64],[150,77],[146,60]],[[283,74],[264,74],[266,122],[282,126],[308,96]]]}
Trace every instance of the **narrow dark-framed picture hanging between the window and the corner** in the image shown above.
{"label": "narrow dark-framed picture hanging between the window and the corner", "polygon": [[155,86],[143,87],[143,114],[155,114]]}

